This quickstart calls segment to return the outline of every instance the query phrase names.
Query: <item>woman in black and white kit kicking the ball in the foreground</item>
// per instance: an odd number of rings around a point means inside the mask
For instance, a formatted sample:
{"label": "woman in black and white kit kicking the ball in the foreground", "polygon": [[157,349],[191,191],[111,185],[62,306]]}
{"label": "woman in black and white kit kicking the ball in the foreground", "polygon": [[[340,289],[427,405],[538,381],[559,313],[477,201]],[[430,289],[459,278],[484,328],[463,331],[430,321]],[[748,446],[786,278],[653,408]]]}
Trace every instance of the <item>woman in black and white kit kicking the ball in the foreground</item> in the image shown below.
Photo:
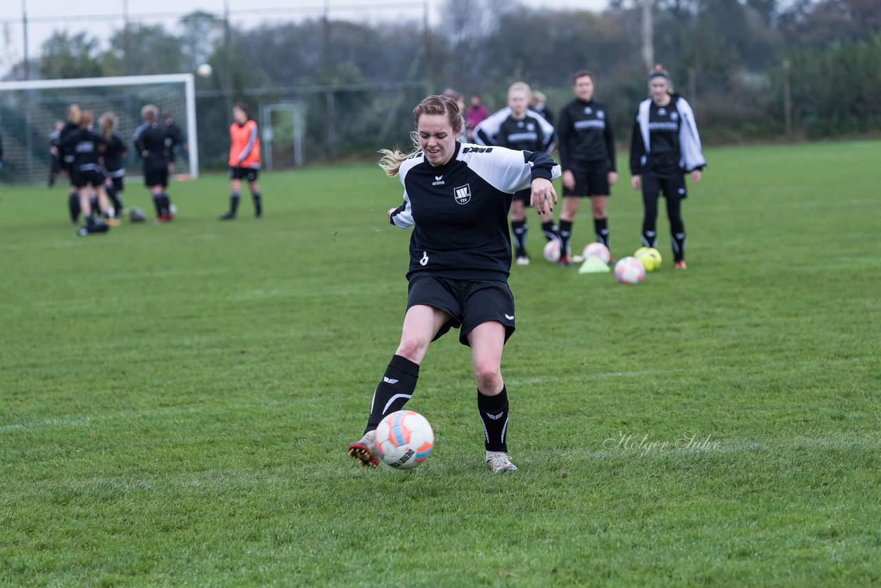
{"label": "woman in black and white kit kicking the ball in the foreground", "polygon": [[507,212],[517,190],[532,186],[539,212],[557,195],[559,166],[545,153],[481,147],[456,141],[465,124],[455,100],[429,96],[413,110],[416,150],[383,150],[380,166],[399,175],[403,204],[388,212],[396,227],[412,227],[407,312],[400,345],[374,391],[364,436],[349,455],[376,466],[375,429],[413,395],[429,344],[450,328],[471,348],[484,423],[486,464],[517,468],[507,457],[507,390],[501,355],[515,330],[514,296],[507,286],[511,239]]}

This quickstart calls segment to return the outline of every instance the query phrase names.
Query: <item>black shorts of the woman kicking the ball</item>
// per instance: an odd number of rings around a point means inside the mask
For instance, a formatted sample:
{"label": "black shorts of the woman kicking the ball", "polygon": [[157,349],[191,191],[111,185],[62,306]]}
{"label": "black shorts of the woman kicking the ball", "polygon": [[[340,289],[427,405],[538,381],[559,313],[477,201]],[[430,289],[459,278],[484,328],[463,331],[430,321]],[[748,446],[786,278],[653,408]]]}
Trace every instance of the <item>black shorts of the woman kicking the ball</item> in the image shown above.
{"label": "black shorts of the woman kicking the ball", "polygon": [[446,279],[430,274],[413,276],[407,294],[407,309],[418,304],[443,310],[451,318],[434,339],[450,329],[462,328],[459,343],[467,346],[468,333],[478,324],[496,321],[505,325],[505,341],[514,334],[514,294],[500,280]]}

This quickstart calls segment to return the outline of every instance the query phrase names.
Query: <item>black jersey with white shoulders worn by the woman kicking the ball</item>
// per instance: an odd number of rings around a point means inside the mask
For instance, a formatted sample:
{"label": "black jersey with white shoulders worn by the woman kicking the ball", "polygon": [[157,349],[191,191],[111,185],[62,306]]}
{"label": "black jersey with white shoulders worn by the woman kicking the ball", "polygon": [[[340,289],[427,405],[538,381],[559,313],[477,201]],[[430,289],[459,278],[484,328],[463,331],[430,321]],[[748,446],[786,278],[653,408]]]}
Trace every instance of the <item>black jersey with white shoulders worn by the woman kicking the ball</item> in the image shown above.
{"label": "black jersey with white shoulders worn by the woman kicking the ball", "polygon": [[398,174],[403,205],[392,212],[391,221],[413,227],[408,279],[429,273],[506,280],[511,197],[534,178],[558,178],[560,169],[545,153],[456,142],[446,165],[433,167],[420,151],[403,161]]}

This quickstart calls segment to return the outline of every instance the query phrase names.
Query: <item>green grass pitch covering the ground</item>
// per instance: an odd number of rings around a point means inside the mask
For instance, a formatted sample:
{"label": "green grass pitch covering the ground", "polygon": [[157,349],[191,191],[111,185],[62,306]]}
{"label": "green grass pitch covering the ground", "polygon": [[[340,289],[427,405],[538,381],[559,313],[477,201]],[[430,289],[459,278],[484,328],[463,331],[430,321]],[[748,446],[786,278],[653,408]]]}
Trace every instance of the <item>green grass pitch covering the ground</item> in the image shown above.
{"label": "green grass pitch covering the ground", "polygon": [[662,212],[638,287],[544,263],[530,212],[506,476],[453,333],[408,404],[426,464],[344,454],[406,296],[378,168],[265,174],[227,223],[225,177],[175,183],[173,224],[80,239],[63,188],[4,186],[0,583],[877,584],[877,145],[708,150],[689,269]]}

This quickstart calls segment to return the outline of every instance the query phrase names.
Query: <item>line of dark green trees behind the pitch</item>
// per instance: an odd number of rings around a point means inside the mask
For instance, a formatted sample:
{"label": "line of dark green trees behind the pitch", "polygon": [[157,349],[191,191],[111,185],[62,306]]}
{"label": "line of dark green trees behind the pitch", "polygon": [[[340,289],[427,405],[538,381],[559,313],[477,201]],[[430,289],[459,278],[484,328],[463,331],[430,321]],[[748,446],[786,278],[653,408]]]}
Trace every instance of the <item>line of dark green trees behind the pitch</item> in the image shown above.
{"label": "line of dark green trees behind the pitch", "polygon": [[[412,103],[447,87],[482,93],[500,108],[507,86],[523,80],[559,108],[571,100],[572,73],[584,68],[595,72],[597,97],[627,133],[646,95],[642,2],[611,0],[595,13],[446,0],[428,31],[417,21],[323,19],[244,28],[194,12],[174,30],[130,24],[106,45],[87,33],[56,32],[30,71],[79,78],[211,63],[214,75],[197,86],[200,129],[220,129],[200,138],[209,158],[211,140],[226,142],[229,100],[300,100],[315,160],[327,155],[329,141],[346,157],[373,151],[377,137],[406,138]],[[653,19],[655,61],[692,101],[709,142],[881,130],[877,0],[655,0]],[[19,63],[7,79],[23,70]]]}

